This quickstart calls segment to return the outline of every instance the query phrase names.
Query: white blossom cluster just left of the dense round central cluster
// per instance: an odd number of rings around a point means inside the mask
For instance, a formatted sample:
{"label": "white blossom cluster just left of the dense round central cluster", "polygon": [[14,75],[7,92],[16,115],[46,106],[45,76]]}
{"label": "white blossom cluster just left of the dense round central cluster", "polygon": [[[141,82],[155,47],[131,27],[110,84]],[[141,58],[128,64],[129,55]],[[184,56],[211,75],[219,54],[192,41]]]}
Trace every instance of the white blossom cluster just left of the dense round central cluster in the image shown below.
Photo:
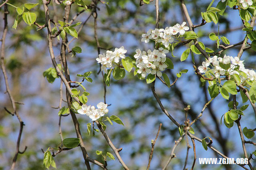
{"label": "white blossom cluster just left of the dense round central cluster", "polygon": [[105,73],[108,73],[107,68],[111,68],[112,66],[119,65],[120,58],[125,58],[125,53],[127,52],[126,49],[124,49],[124,46],[120,48],[115,48],[115,51],[106,51],[105,53],[99,54],[99,57],[96,58],[98,63],[101,63],[101,71],[104,71]]}

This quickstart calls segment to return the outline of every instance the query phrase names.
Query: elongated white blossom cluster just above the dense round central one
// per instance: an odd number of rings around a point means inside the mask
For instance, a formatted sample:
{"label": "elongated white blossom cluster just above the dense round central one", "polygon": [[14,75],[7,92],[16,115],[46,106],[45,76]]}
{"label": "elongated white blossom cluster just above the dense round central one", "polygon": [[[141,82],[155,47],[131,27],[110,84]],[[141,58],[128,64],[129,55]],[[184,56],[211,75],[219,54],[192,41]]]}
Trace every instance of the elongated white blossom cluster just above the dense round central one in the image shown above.
{"label": "elongated white blossom cluster just above the dense round central one", "polygon": [[184,35],[185,31],[189,30],[186,25],[186,22],[183,22],[181,25],[176,24],[173,27],[166,27],[165,29],[150,29],[146,34],[142,34],[142,42],[148,43],[149,40],[154,40],[158,43],[162,43],[165,47],[168,47],[170,43],[174,41],[174,36],[178,33]]}

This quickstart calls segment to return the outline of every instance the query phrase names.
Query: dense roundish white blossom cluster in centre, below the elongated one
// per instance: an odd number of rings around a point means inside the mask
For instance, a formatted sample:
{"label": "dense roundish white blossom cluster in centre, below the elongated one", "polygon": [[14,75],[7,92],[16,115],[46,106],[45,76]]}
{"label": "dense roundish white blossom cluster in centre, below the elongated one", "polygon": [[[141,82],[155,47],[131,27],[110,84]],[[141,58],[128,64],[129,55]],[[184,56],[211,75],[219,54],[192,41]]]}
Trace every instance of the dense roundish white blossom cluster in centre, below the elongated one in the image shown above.
{"label": "dense roundish white blossom cluster in centre, below the elongated one", "polygon": [[161,77],[161,71],[164,71],[167,67],[164,61],[166,61],[166,53],[168,52],[167,49],[162,47],[154,49],[154,51],[149,49],[147,52],[136,49],[134,58],[136,58],[136,66],[138,67],[137,73],[141,74],[143,78],[149,73]]}

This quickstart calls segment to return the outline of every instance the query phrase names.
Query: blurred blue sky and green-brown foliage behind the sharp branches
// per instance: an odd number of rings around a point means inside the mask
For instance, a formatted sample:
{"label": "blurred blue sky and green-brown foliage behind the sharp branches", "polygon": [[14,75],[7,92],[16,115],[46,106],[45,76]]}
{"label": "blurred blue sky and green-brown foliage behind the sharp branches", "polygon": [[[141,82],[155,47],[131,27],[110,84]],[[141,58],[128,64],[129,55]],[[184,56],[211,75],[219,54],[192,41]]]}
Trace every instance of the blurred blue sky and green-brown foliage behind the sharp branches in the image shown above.
{"label": "blurred blue sky and green-brown foliage behind the sharp branches", "polygon": [[[27,1],[9,0],[15,6],[21,6]],[[44,24],[44,12],[41,1],[31,0],[30,2],[39,3],[33,8],[37,15],[36,22]],[[90,0],[84,1],[90,4]],[[102,0],[103,2],[103,0]],[[149,28],[155,27],[155,6],[154,2],[139,6],[138,0],[105,0],[104,3],[98,3],[98,38],[100,46],[105,49],[124,46],[128,50],[126,56],[133,57],[135,49],[140,48],[145,51],[154,49],[154,43],[142,43],[141,34],[147,32]],[[206,11],[210,0],[186,0],[189,14],[193,23],[202,22],[201,12]],[[214,2],[213,6],[216,6]],[[53,2],[49,5],[50,18],[55,22],[62,20],[64,15],[64,6],[56,5]],[[22,117],[25,127],[22,134],[20,148],[28,146],[26,152],[18,156],[16,169],[19,170],[40,170],[42,168],[43,153],[41,148],[47,150],[48,147],[56,147],[60,143],[58,133],[58,110],[52,107],[58,106],[60,97],[60,79],[56,79],[50,84],[42,73],[52,67],[48,45],[46,42],[46,28],[36,31],[37,27],[31,27],[21,22],[18,28],[14,30],[12,24],[16,17],[16,9],[8,6],[8,35],[6,41],[6,66],[8,68],[9,83],[11,85],[14,99],[24,105],[17,105],[20,116]],[[72,5],[70,19],[82,10],[81,7]],[[90,10],[83,12],[78,16],[75,22],[84,22],[90,15]],[[3,8],[0,9],[0,18],[3,18]],[[186,21],[182,8],[178,0],[160,0],[160,28],[174,26],[176,23]],[[0,22],[0,30],[3,29],[3,21]],[[70,48],[78,45],[82,48],[82,53],[76,57],[68,54],[68,65],[72,81],[81,81],[76,74],[83,74],[86,71],[93,71],[93,82],[83,83],[86,91],[90,92],[88,97],[89,105],[96,105],[103,101],[103,83],[102,76],[97,75],[99,65],[96,62],[97,48],[94,39],[94,19],[90,17],[86,25],[82,28],[79,38],[70,44]],[[218,51],[216,44],[208,38],[211,32],[225,35],[231,42],[237,43],[243,40],[242,21],[240,20],[237,10],[227,7],[224,16],[220,17],[219,23],[207,23],[205,26],[195,29],[206,47]],[[78,29],[78,28],[77,28]],[[68,36],[68,40],[72,37]],[[60,53],[60,42],[54,40],[54,53],[56,58]],[[174,69],[166,71],[169,77],[174,81],[176,73],[182,69],[188,69],[188,73],[182,75],[178,82],[168,89],[160,81],[156,82],[156,93],[158,93],[163,105],[171,115],[181,124],[184,124],[185,114],[184,107],[190,105],[191,109],[188,116],[190,120],[195,118],[202,110],[206,101],[210,99],[207,91],[207,83],[203,85],[193,72],[192,59],[189,56],[184,62],[180,62],[180,55],[189,47],[188,45],[178,45],[174,50],[172,58]],[[225,51],[227,55],[236,56],[238,48],[232,48]],[[101,53],[105,50],[101,49]],[[224,55],[224,53],[223,53]],[[247,67],[255,69],[255,51],[247,50],[243,54],[243,59]],[[204,57],[195,55],[196,65],[200,65]],[[16,138],[18,135],[19,123],[16,117],[11,117],[4,111],[4,107],[11,109],[11,103],[5,92],[5,85],[2,73],[0,74],[0,169],[6,170],[10,167],[12,157],[15,152]],[[64,94],[64,92],[63,92]],[[124,122],[125,127],[114,124],[107,125],[106,132],[112,138],[116,147],[122,147],[120,152],[124,162],[131,170],[144,170],[148,164],[148,157],[151,149],[151,139],[155,138],[159,123],[163,123],[160,136],[156,141],[154,155],[151,163],[151,169],[161,169],[168,160],[174,141],[178,140],[178,128],[164,115],[154,99],[150,85],[146,80],[139,80],[133,76],[133,72],[126,73],[125,79],[115,81],[111,79],[110,87],[107,87],[106,101],[109,106],[109,115],[117,115]],[[241,101],[238,99],[238,101]],[[242,102],[241,102],[242,103]],[[62,106],[67,104],[63,101]],[[210,136],[213,139],[213,146],[218,148],[226,156],[232,158],[243,157],[242,144],[238,135],[237,128],[226,128],[220,125],[222,114],[228,111],[227,101],[222,97],[214,99],[211,105],[204,112],[204,116],[197,121],[193,128],[195,135],[204,138]],[[112,150],[108,147],[102,134],[96,133],[93,137],[87,135],[86,124],[90,119],[83,115],[77,115],[80,123],[82,136],[86,144],[86,149],[90,157],[104,162],[101,156],[95,151],[102,150],[103,153]],[[254,114],[252,109],[247,109],[243,117],[242,127],[250,128],[255,120],[252,119]],[[70,116],[62,117],[62,133],[64,138],[76,137],[74,125]],[[251,127],[252,128],[252,127]],[[252,138],[255,141],[256,137]],[[190,144],[192,145],[191,141]],[[246,145],[248,152],[252,153],[255,146]],[[202,144],[196,142],[196,151],[200,157],[218,157],[211,150],[205,151]],[[113,153],[112,153],[113,154]],[[183,140],[176,149],[176,158],[172,160],[168,169],[183,168],[186,155],[186,142]],[[190,149],[188,165],[192,166],[194,154]],[[84,169],[84,160],[79,147],[72,150],[62,151],[54,158],[58,169]],[[255,162],[252,162],[254,166]],[[239,169],[239,166],[220,166],[220,165],[199,165],[196,162],[195,169]],[[92,165],[92,169],[98,169],[98,166]],[[118,160],[109,160],[108,169],[119,170],[122,166]]]}

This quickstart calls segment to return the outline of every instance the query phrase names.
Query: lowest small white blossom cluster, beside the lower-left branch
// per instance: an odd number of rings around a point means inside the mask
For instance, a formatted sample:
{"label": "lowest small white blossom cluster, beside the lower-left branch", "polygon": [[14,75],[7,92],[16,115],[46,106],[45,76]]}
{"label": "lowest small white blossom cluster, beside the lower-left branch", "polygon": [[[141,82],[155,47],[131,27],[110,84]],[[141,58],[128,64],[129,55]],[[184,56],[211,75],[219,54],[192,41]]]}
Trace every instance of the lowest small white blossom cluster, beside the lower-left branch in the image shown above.
{"label": "lowest small white blossom cluster, beside the lower-left branch", "polygon": [[94,106],[87,106],[83,104],[82,109],[78,109],[77,112],[81,115],[87,115],[88,117],[90,117],[90,119],[92,119],[92,121],[96,121],[97,119],[108,113],[108,104],[100,102],[98,103],[97,107],[98,109],[95,109]]}

